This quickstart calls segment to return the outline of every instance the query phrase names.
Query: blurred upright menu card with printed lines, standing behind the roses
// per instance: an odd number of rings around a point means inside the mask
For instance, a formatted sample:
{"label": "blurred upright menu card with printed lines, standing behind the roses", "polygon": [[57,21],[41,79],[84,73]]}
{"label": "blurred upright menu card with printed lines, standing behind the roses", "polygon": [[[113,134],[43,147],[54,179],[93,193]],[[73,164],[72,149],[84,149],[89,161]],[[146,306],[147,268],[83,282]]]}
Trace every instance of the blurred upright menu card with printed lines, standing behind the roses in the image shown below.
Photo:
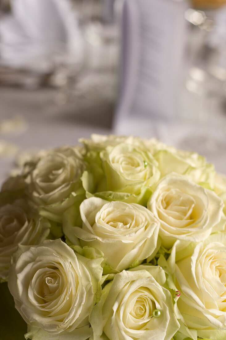
{"label": "blurred upright menu card with printed lines, standing behind the roses", "polygon": [[187,0],[125,0],[118,118],[178,114]]}

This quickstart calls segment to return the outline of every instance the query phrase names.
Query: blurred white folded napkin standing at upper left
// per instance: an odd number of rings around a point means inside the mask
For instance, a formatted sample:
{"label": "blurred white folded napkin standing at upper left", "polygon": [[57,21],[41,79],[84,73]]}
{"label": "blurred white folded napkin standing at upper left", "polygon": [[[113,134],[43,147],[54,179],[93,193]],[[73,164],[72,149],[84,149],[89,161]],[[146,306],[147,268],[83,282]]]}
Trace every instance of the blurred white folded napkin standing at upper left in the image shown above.
{"label": "blurred white folded napkin standing at upper left", "polygon": [[0,21],[0,62],[48,72],[83,56],[83,42],[70,0],[11,0]]}

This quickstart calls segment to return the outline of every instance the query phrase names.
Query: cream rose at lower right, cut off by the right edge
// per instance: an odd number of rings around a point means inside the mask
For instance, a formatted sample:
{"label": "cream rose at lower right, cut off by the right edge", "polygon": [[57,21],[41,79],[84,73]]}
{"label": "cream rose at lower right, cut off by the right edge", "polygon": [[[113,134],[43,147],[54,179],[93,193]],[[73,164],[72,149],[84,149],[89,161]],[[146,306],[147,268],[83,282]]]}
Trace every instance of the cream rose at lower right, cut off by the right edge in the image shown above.
{"label": "cream rose at lower right, cut off by the right edge", "polygon": [[187,247],[177,241],[169,263],[180,291],[177,306],[187,326],[201,338],[225,339],[226,233]]}

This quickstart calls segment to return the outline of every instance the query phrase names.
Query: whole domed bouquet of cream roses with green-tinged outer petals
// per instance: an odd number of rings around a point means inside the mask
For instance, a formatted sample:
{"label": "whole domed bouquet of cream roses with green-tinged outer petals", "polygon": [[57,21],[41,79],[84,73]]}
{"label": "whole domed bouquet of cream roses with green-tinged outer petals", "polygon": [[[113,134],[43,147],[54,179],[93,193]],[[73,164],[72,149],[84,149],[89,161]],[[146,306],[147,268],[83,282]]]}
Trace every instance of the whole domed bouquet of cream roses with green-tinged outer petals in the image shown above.
{"label": "whole domed bouquet of cream roses with green-tinged outer petals", "polygon": [[155,139],[42,150],[0,193],[0,278],[33,340],[226,339],[226,177]]}

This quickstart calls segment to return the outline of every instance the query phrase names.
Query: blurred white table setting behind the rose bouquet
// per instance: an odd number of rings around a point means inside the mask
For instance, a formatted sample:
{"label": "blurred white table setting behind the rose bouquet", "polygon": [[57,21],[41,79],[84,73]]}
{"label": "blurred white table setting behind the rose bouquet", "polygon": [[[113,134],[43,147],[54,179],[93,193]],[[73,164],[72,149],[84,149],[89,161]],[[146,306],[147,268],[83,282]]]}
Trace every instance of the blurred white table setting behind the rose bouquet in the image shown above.
{"label": "blurred white table setting behind the rose bouquet", "polygon": [[23,150],[157,137],[226,172],[226,0],[0,0],[0,182]]}

